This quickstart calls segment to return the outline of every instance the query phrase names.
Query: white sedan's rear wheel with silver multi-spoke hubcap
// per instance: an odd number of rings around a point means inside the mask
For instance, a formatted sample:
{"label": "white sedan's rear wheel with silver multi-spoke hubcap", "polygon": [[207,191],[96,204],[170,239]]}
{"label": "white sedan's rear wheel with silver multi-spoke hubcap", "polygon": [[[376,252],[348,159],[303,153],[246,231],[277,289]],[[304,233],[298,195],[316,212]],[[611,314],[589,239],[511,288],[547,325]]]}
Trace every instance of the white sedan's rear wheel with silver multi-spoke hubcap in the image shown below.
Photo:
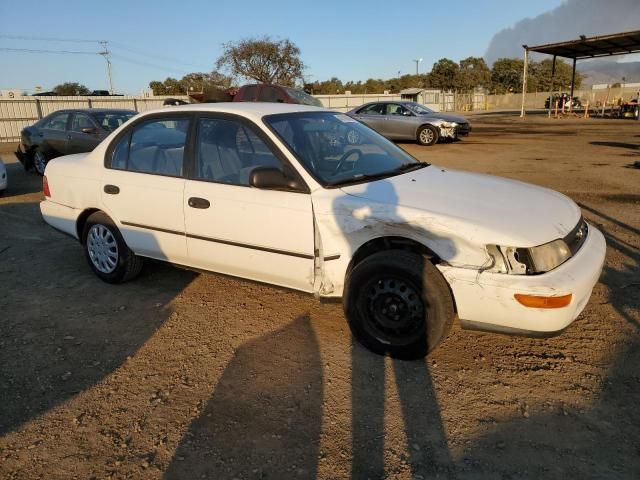
{"label": "white sedan's rear wheel with silver multi-spoke hubcap", "polygon": [[103,212],[87,219],[82,245],[93,273],[107,283],[127,282],[142,270],[142,258],[127,247],[118,227]]}

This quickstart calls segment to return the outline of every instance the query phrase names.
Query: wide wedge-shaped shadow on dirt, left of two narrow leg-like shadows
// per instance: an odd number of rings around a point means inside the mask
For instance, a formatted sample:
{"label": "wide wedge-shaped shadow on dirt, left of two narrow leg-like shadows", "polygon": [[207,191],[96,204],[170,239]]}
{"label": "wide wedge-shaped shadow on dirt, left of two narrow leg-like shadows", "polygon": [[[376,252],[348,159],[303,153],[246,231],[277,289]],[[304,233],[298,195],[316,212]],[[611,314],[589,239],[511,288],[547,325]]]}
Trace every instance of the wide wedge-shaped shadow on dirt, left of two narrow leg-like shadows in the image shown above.
{"label": "wide wedge-shaped shadow on dirt, left of two narrow leg-like shadows", "polygon": [[323,394],[309,317],[245,343],[165,478],[315,478]]}

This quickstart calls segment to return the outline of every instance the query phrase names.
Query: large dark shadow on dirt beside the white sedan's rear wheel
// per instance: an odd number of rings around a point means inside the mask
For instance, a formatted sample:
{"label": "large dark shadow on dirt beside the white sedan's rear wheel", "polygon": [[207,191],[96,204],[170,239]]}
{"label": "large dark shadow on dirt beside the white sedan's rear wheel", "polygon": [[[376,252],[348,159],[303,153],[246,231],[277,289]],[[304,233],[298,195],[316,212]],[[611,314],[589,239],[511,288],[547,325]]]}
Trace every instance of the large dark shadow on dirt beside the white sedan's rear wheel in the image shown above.
{"label": "large dark shadow on dirt beside the white sedan's rear wheel", "polygon": [[[89,389],[172,313],[195,274],[149,262],[126,286],[100,281],[38,203],[0,203],[0,434]],[[52,275],[52,270],[55,275]],[[61,308],[60,305],[63,305]]]}

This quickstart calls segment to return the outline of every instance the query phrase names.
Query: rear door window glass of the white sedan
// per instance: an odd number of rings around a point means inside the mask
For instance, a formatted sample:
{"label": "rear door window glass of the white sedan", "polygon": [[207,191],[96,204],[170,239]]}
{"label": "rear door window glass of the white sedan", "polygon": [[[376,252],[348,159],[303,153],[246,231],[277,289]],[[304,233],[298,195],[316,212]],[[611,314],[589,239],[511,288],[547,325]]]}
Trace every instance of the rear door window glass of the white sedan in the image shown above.
{"label": "rear door window glass of the white sedan", "polygon": [[111,153],[111,168],[180,177],[190,120],[158,119],[137,125]]}

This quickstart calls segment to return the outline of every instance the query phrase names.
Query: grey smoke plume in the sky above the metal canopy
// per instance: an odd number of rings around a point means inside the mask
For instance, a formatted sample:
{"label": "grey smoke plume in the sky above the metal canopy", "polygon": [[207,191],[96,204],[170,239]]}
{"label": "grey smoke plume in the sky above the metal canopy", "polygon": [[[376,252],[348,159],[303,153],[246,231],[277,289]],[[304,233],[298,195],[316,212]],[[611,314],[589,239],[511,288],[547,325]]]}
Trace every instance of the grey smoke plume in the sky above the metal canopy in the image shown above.
{"label": "grey smoke plume in the sky above the metal canopy", "polygon": [[640,29],[640,0],[566,0],[553,10],[526,18],[491,39],[485,60],[520,58],[522,45],[577,40]]}

